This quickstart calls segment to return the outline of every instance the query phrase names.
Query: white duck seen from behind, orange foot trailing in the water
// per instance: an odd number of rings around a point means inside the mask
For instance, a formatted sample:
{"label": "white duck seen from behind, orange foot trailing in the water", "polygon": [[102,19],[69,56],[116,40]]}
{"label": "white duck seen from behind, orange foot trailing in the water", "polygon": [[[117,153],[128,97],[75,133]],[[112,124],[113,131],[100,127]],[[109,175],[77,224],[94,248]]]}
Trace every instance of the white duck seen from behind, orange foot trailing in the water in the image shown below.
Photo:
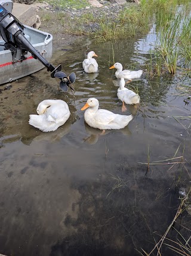
{"label": "white duck seen from behind, orange foot trailing in the water", "polygon": [[121,78],[119,82],[119,88],[118,88],[118,98],[122,101],[122,112],[124,112],[126,109],[126,104],[138,104],[140,102],[140,97],[138,94],[135,94],[135,92],[125,88],[125,79]]}

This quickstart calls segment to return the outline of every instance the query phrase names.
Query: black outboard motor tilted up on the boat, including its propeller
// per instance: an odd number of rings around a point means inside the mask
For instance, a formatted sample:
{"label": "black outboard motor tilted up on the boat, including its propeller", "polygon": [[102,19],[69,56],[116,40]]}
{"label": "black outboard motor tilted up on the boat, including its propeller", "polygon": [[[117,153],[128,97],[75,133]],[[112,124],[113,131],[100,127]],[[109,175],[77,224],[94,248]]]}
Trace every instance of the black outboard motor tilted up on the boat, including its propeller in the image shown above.
{"label": "black outboard motor tilted up on the boat, including its propeller", "polygon": [[55,68],[41,56],[26,37],[24,37],[24,25],[11,14],[12,8],[13,2],[11,0],[1,1],[0,34],[5,41],[5,49],[10,50],[14,58],[17,54],[17,49],[19,48],[21,50],[21,59],[23,60],[26,59],[25,55],[27,52],[30,52],[33,58],[38,59],[45,67],[47,67],[47,71],[51,72],[51,77],[58,77],[61,80],[60,89],[62,91],[67,91],[68,87],[74,90],[71,84],[75,82],[75,73],[66,76],[66,74],[61,71],[61,65],[58,65],[58,67]]}

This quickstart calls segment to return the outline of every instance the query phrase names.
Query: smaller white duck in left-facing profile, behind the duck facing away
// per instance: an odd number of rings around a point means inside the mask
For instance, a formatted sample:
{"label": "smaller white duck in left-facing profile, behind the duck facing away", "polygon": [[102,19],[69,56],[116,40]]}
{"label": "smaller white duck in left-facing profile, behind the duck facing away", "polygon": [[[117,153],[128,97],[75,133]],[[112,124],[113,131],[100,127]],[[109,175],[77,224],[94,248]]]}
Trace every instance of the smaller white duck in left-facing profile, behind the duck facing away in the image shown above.
{"label": "smaller white duck in left-facing profile, behind the duck facing away", "polygon": [[119,62],[116,62],[109,69],[112,70],[112,68],[116,68],[116,72],[115,72],[116,78],[120,78],[120,79],[124,78],[124,79],[130,80],[127,83],[131,82],[132,79],[139,78],[141,74],[143,74],[143,70],[138,70],[138,71],[123,70],[123,66]]}

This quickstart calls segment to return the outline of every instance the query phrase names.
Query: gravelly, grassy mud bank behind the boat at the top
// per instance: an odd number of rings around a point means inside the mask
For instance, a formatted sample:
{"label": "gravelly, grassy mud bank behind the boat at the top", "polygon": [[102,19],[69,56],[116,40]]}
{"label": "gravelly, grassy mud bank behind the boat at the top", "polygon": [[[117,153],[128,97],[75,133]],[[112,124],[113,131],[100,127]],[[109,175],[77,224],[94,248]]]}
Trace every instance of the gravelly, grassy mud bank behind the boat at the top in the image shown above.
{"label": "gravelly, grassy mud bank behind the boat at the top", "polygon": [[[119,5],[109,1],[100,1],[102,7],[93,7],[90,4],[85,8],[72,7],[53,7],[49,4],[36,3],[36,11],[41,19],[40,29],[49,32],[53,35],[53,48],[62,49],[71,46],[78,38],[87,37],[84,32],[95,32],[99,29],[100,24],[98,19],[106,19],[106,22],[116,22],[120,11],[126,7],[135,5],[132,2],[127,2],[125,5]],[[88,17],[95,17],[95,22],[91,22]],[[84,32],[79,35],[72,31],[71,27],[78,26],[77,19],[83,17],[82,24]]]}

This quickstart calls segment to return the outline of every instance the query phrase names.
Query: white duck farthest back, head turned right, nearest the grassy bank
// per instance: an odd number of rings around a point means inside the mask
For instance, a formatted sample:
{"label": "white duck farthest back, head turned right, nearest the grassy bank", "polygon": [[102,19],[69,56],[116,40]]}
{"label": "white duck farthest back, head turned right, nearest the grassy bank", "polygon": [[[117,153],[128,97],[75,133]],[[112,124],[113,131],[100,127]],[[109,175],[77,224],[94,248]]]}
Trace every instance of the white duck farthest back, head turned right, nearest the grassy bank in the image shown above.
{"label": "white duck farthest back, head turned right, nearest the grassy bank", "polygon": [[86,73],[96,73],[98,70],[98,64],[96,59],[93,57],[98,57],[95,52],[91,51],[87,55],[87,59],[82,62],[82,67]]}

